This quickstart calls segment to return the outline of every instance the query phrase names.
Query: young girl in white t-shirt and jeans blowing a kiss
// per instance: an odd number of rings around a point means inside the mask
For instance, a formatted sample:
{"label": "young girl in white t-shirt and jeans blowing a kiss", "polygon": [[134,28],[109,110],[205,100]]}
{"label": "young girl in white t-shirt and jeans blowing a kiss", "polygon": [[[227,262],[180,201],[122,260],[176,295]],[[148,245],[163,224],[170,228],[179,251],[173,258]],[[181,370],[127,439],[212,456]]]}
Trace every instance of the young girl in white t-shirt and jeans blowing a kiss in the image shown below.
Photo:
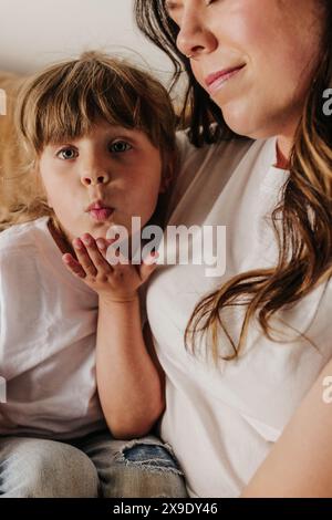
{"label": "young girl in white t-shirt and jeans blowing a kiss", "polygon": [[[153,217],[176,156],[168,95],[129,64],[87,53],[24,84],[18,125],[34,184],[0,235],[0,495],[185,496],[170,447],[143,437],[164,408],[138,322],[137,291],[154,267],[131,271],[131,290],[105,291],[84,254],[112,225]],[[79,236],[89,280],[62,261],[76,269]],[[98,306],[114,326],[96,340]],[[139,329],[131,344],[124,308]]]}

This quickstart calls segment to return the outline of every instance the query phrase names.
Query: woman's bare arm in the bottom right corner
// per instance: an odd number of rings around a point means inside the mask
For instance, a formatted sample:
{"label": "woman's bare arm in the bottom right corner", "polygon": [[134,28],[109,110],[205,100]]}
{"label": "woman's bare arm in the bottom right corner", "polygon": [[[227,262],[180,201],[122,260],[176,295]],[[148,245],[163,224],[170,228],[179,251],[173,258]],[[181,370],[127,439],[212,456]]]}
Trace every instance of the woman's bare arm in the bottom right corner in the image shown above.
{"label": "woman's bare arm in the bottom right corner", "polygon": [[332,497],[331,376],[332,360],[243,490],[242,498]]}

